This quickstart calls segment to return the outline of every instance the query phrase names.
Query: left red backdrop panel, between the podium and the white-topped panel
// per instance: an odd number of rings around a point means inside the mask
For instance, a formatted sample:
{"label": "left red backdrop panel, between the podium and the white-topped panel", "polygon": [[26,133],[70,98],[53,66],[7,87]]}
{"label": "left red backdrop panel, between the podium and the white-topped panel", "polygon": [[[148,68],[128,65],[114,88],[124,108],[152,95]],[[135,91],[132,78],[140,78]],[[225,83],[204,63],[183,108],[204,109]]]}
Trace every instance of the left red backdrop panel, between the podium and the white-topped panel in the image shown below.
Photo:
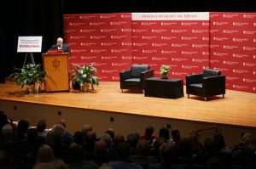
{"label": "left red backdrop panel, between the podium and the white-topped panel", "polygon": [[70,64],[95,63],[100,81],[131,67],[131,14],[65,14]]}

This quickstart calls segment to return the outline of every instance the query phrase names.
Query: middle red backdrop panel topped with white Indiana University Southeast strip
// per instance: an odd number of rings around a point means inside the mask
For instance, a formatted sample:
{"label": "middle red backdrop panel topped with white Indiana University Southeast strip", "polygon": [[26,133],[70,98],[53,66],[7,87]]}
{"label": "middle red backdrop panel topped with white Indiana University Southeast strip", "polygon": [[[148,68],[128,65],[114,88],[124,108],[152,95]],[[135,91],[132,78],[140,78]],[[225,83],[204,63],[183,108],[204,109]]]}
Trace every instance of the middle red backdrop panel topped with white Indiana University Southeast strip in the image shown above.
{"label": "middle red backdrop panel topped with white Indiana University Southeast strip", "polygon": [[209,67],[208,13],[133,13],[133,63],[148,64],[160,76],[161,65],[171,65],[169,77]]}

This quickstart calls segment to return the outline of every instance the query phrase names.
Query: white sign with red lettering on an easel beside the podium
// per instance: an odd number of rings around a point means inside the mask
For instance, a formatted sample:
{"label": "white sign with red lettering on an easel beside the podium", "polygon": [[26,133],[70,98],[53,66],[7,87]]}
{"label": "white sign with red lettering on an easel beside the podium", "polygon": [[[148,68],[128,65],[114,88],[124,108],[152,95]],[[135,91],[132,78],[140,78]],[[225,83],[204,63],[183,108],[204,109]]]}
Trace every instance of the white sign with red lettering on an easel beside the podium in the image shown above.
{"label": "white sign with red lettering on an easel beside the podium", "polygon": [[[19,37],[18,38],[18,53],[30,53],[30,57],[32,60],[32,64],[35,64],[35,60],[33,57],[34,53],[40,53],[42,49],[42,37]],[[26,63],[26,57],[23,63],[23,66]]]}

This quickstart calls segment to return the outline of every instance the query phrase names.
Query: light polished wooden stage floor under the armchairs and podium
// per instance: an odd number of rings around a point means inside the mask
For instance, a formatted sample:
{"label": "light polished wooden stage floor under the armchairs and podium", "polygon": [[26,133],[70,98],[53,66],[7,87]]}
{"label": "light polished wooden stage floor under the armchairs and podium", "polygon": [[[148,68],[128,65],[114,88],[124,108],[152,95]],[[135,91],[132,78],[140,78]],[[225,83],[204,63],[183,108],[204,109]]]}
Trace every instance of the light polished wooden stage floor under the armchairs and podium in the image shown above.
{"label": "light polished wooden stage floor under the armchairs and podium", "polygon": [[256,94],[232,90],[226,90],[225,99],[219,95],[203,101],[196,96],[188,99],[186,95],[181,99],[160,99],[130,90],[121,93],[119,82],[101,82],[89,93],[39,94],[22,94],[14,83],[7,82],[0,84],[1,100],[256,127]]}

